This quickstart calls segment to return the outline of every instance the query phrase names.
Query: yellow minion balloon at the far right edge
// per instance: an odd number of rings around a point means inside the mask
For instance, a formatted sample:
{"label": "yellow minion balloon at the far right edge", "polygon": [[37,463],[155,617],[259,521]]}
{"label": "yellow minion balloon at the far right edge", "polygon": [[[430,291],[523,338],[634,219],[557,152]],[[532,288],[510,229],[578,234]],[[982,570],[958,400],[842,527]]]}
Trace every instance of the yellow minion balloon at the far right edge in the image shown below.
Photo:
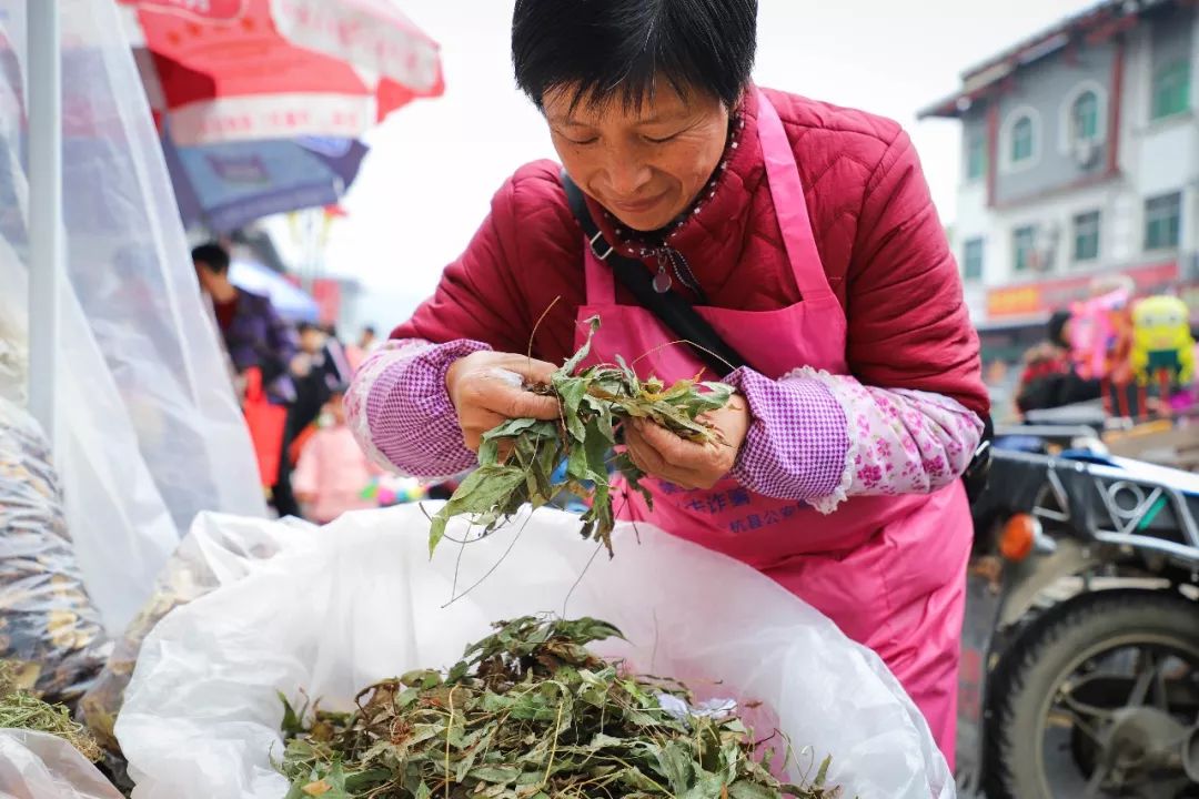
{"label": "yellow minion balloon at the far right edge", "polygon": [[1194,346],[1191,314],[1177,297],[1146,297],[1132,309],[1132,368],[1141,386],[1169,374],[1171,382],[1194,379]]}

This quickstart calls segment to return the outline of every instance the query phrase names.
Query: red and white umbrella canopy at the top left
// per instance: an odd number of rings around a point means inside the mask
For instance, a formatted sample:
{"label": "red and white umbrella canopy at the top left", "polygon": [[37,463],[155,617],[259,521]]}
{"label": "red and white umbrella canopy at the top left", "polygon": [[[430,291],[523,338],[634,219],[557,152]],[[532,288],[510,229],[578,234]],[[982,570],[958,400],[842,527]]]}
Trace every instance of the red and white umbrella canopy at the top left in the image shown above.
{"label": "red and white umbrella canopy at the top left", "polygon": [[436,43],[388,0],[121,1],[137,8],[143,78],[181,145],[357,138],[445,87]]}

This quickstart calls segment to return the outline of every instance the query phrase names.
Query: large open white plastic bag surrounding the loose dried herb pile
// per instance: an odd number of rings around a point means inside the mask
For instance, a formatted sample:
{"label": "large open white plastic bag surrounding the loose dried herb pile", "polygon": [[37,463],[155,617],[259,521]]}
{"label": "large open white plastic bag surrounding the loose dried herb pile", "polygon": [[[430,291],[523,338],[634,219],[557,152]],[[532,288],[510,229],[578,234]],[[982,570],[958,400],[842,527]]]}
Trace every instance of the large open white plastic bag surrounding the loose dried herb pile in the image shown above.
{"label": "large open white plastic bag surrounding the loose dried herb pile", "polygon": [[[465,546],[447,539],[432,563],[414,506],[290,531],[288,549],[146,638],[116,724],[134,799],[279,799],[276,691],[348,707],[369,683],[447,667],[492,622],[537,612],[614,623],[631,643],[605,654],[680,678],[701,700],[761,701],[803,757],[832,756],[830,779],[848,797],[953,795],[899,684],[815,610],[656,528],[619,527],[610,561],[578,528],[577,516],[541,510]],[[444,607],[456,580],[457,593],[478,585]]]}

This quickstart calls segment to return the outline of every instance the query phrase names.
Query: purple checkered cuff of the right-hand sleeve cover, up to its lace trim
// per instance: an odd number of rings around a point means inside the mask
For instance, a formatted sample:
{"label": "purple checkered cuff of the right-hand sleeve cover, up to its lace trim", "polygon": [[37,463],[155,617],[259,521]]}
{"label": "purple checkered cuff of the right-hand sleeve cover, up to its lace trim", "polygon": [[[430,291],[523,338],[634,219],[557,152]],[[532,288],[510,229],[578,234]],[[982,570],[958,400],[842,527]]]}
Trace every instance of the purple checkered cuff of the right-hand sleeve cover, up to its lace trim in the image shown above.
{"label": "purple checkered cuff of the right-hand sleeve cover, up to its lace trim", "polygon": [[781,500],[819,500],[840,485],[849,450],[845,414],[818,380],[779,382],[742,368],[728,377],[753,424],[731,477]]}

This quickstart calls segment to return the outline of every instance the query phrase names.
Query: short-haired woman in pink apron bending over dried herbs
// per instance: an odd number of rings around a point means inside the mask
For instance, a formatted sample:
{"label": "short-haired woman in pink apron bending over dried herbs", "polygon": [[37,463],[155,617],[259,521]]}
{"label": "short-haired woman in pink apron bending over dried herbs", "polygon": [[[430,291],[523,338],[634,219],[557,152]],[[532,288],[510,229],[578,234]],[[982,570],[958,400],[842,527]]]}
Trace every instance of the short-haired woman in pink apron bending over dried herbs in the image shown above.
{"label": "short-haired woman in pink apron bending over dried herbs", "polygon": [[[731,447],[627,431],[656,501],[631,492],[625,515],[757,567],[874,648],[952,757],[971,539],[957,478],[988,410],[977,339],[908,137],[759,90],[755,37],[755,0],[516,5],[517,81],[603,237],[752,367],[724,376],[737,395],[711,418]],[[592,314],[597,357],[699,371],[586,246],[559,167],[523,167],[363,364],[351,425],[393,468],[465,470],[505,418],[558,418],[505,375],[546,381]]]}

